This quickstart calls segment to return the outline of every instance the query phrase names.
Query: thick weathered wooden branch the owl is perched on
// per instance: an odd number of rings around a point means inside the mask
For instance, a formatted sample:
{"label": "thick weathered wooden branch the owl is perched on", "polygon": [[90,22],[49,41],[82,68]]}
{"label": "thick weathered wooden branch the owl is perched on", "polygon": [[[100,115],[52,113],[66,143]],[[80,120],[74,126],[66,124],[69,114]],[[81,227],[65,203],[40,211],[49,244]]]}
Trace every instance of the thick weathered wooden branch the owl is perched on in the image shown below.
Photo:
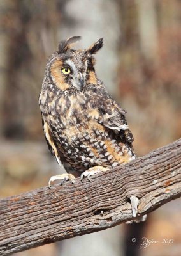
{"label": "thick weathered wooden branch the owl is perched on", "polygon": [[181,140],[131,163],[62,186],[0,201],[0,255],[27,250],[133,220],[181,196]]}

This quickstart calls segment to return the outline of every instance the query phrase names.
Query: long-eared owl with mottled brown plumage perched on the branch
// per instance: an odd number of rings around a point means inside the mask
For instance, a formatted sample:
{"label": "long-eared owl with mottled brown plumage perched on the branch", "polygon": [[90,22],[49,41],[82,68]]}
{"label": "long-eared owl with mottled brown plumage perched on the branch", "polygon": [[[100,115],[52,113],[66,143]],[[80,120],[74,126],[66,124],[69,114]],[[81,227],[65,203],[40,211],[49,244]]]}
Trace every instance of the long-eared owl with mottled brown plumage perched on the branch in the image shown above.
{"label": "long-eared owl with mottled brown plumage perched on the branch", "polygon": [[40,93],[43,131],[48,148],[74,180],[124,164],[135,158],[125,114],[96,76],[94,54],[103,38],[89,49],[75,50],[74,36],[59,43],[47,61]]}

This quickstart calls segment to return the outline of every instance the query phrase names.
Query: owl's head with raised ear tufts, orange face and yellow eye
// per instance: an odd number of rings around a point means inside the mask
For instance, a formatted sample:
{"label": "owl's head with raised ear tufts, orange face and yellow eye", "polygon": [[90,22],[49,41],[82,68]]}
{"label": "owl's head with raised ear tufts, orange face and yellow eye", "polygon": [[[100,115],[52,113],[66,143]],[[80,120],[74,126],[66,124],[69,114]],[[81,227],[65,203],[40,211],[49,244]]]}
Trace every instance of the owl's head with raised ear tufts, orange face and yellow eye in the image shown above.
{"label": "owl's head with raised ear tufts, orange face and yellow eye", "polygon": [[91,45],[89,49],[71,49],[80,36],[73,36],[59,43],[58,51],[48,63],[49,77],[61,90],[75,89],[82,91],[87,84],[96,84],[94,54],[103,46],[103,38]]}

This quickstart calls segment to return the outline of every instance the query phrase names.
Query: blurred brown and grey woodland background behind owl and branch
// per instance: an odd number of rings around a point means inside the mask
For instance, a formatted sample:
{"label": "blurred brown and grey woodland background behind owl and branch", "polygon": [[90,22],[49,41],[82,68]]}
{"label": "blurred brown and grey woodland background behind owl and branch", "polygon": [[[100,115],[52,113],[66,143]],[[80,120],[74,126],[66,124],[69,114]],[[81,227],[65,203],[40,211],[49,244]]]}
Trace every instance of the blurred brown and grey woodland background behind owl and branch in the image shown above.
{"label": "blurred brown and grey woodland background behind owl and branch", "polygon": [[[180,0],[0,0],[0,13],[1,198],[47,186],[60,172],[43,136],[38,95],[48,56],[70,36],[81,35],[83,49],[104,38],[96,72],[127,111],[137,156],[180,138]],[[15,255],[180,256],[180,209],[175,200],[145,223]],[[141,249],[142,237],[159,243]]]}

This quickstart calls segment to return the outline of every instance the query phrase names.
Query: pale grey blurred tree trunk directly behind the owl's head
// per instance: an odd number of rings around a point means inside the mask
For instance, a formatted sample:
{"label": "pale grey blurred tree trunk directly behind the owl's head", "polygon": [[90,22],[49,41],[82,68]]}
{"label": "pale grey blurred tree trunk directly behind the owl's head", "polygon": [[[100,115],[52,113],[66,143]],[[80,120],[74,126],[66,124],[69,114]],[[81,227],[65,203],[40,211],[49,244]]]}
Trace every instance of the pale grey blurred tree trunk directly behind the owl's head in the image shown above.
{"label": "pale grey blurred tree trunk directly behind the owl's head", "polygon": [[117,89],[117,66],[119,54],[117,48],[120,38],[119,3],[108,0],[76,0],[66,1],[63,5],[58,1],[59,7],[64,8],[59,38],[82,36],[77,47],[88,48],[99,38],[104,38],[104,47],[98,53],[96,73],[103,80],[109,92],[115,93]]}

